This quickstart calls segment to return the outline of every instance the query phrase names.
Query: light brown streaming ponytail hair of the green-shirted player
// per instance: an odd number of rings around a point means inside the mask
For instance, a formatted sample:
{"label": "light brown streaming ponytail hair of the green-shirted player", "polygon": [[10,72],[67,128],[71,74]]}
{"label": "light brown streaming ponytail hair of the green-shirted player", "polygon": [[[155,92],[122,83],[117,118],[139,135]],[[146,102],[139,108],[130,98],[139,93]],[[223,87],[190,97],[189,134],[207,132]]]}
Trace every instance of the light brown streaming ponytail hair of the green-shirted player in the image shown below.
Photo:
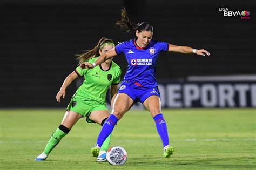
{"label": "light brown streaming ponytail hair of the green-shirted player", "polygon": [[77,57],[77,60],[79,61],[79,63],[83,63],[89,59],[92,59],[92,58],[95,58],[95,57],[99,57],[100,54],[99,54],[99,49],[100,47],[105,44],[105,43],[113,43],[113,40],[112,39],[108,39],[106,37],[102,37],[98,44],[91,50],[85,50],[86,52],[85,53],[82,53],[82,54],[78,54],[78,55],[75,55],[75,57]]}

